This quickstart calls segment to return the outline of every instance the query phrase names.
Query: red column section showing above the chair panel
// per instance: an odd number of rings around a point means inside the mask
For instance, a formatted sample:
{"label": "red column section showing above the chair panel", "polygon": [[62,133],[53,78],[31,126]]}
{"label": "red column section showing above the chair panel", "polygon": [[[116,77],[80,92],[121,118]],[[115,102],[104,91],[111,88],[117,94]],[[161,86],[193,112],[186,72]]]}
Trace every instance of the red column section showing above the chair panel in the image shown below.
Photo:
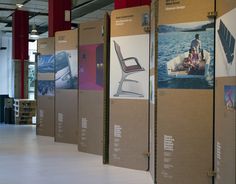
{"label": "red column section showing above the chair panel", "polygon": [[129,8],[134,6],[150,5],[151,0],[114,0],[115,9]]}

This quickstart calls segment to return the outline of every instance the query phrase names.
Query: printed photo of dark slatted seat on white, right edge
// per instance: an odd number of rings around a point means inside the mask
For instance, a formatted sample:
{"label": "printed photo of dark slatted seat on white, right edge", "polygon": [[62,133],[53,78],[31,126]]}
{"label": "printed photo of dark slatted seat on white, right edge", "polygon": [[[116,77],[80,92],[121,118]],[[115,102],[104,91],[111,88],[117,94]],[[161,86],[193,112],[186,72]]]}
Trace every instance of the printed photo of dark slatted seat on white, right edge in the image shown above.
{"label": "printed photo of dark slatted seat on white, right edge", "polygon": [[216,21],[216,76],[236,76],[236,8]]}

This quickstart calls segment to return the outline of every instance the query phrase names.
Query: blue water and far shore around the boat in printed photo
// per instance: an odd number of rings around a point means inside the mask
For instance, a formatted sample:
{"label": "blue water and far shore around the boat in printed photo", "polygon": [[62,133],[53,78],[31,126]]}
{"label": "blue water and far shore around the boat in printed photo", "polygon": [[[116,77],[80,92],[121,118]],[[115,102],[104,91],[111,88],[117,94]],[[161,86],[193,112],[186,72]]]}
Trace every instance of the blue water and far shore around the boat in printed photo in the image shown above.
{"label": "blue water and far shore around the boat in printed photo", "polygon": [[[195,34],[200,35],[202,49],[210,52],[210,72],[206,79],[177,79],[167,76],[166,63],[189,51]],[[166,32],[158,34],[158,88],[212,89],[214,81],[214,28],[206,31]]]}

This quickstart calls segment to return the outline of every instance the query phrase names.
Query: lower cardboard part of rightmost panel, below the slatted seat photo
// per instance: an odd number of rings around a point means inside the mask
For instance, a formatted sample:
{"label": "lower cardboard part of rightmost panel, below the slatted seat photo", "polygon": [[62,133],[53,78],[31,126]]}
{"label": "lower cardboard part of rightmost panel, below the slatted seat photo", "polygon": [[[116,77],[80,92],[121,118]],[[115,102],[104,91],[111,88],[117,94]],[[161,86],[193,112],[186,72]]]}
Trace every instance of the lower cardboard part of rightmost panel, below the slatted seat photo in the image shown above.
{"label": "lower cardboard part of rightmost panel, below the slatted seat photo", "polygon": [[215,183],[234,184],[236,77],[216,78],[215,99]]}

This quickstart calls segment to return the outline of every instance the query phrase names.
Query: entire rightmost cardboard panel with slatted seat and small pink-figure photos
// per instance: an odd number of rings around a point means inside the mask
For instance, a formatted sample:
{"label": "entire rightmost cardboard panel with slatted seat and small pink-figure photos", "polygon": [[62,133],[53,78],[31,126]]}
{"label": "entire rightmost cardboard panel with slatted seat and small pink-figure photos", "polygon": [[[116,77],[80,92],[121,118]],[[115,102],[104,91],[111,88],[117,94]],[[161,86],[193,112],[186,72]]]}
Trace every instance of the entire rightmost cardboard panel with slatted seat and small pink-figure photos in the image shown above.
{"label": "entire rightmost cardboard panel with slatted seat and small pink-figure photos", "polygon": [[236,1],[217,0],[215,86],[215,183],[235,184]]}

